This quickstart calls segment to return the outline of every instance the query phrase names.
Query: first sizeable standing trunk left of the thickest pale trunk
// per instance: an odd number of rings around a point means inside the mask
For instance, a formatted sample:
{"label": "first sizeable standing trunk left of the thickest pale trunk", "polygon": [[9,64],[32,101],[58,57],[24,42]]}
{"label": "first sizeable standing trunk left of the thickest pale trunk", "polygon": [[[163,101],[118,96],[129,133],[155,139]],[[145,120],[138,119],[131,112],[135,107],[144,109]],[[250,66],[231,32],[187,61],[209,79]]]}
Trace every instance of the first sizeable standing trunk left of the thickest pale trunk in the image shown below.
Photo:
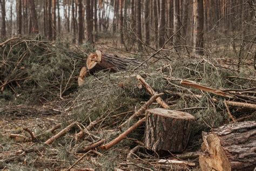
{"label": "first sizeable standing trunk left of the thickest pale trunk", "polygon": [[173,1],[173,30],[174,33],[176,33],[173,43],[174,45],[178,45],[180,41],[180,6],[179,6],[179,0]]}

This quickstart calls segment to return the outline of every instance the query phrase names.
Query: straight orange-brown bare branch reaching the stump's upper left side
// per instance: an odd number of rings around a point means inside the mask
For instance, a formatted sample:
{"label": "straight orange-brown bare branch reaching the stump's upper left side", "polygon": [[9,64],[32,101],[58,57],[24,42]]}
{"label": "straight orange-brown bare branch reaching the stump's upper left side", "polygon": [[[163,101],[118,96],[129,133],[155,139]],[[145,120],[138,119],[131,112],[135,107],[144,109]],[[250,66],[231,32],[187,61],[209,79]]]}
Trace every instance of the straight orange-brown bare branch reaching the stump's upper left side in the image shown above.
{"label": "straight orange-brown bare branch reaching the stump's upper left side", "polygon": [[118,142],[122,141],[123,139],[126,138],[127,135],[129,135],[132,131],[134,131],[136,128],[138,128],[139,126],[141,126],[143,124],[143,122],[146,120],[146,117],[140,119],[138,122],[136,122],[136,124],[134,124],[133,126],[131,126],[129,129],[127,129],[125,132],[123,132],[122,134],[120,134],[116,139],[112,140],[111,142],[107,143],[106,145],[101,146],[101,149],[110,149],[111,147],[113,147],[114,145],[116,145]]}

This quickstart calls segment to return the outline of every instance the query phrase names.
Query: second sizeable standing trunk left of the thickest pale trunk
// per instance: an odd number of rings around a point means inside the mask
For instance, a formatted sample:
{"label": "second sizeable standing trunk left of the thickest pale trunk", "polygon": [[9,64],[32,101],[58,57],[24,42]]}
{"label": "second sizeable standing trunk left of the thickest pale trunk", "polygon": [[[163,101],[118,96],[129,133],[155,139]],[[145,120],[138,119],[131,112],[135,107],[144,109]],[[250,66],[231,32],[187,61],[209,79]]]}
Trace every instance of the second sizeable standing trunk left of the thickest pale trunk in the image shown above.
{"label": "second sizeable standing trunk left of the thickest pale trunk", "polygon": [[159,40],[158,44],[159,47],[163,46],[165,43],[165,5],[166,1],[165,0],[160,0],[160,22],[159,22]]}

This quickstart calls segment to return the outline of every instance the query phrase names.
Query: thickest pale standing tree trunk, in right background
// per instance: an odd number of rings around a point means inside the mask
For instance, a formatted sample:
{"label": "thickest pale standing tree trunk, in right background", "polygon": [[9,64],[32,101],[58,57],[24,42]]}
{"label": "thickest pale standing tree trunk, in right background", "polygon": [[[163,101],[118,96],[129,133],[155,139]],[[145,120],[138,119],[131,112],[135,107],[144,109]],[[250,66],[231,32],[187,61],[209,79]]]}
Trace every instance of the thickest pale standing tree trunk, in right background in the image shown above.
{"label": "thickest pale standing tree trunk, in right background", "polygon": [[194,53],[204,54],[204,3],[203,0],[193,0],[193,46]]}

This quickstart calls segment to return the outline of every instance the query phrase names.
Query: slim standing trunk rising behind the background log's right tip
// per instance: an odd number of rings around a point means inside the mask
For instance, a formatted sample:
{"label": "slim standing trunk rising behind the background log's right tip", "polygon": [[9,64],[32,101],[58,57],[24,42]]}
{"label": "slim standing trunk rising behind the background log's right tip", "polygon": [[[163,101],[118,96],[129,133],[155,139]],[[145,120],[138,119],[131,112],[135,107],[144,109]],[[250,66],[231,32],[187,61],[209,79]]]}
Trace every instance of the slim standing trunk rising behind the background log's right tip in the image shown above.
{"label": "slim standing trunk rising behind the background log's right tip", "polygon": [[142,10],[141,10],[141,0],[136,0],[136,18],[137,18],[137,27],[136,27],[136,31],[137,31],[137,38],[138,38],[138,51],[142,52],[142,43],[140,43],[140,41],[142,40]]}

